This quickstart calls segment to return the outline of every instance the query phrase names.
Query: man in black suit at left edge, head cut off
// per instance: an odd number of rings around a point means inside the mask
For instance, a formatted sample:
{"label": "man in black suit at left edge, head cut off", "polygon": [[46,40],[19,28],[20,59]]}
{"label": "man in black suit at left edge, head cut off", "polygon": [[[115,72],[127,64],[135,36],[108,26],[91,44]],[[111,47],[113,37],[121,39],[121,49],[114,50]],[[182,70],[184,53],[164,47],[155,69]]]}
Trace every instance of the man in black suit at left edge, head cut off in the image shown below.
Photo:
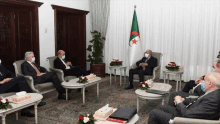
{"label": "man in black suit at left edge, head cut off", "polygon": [[[5,67],[0,63],[0,94],[20,91],[32,93],[32,90],[24,77],[15,77],[14,73],[6,70]],[[28,108],[22,109],[21,115],[35,117],[35,115],[31,113]]]}

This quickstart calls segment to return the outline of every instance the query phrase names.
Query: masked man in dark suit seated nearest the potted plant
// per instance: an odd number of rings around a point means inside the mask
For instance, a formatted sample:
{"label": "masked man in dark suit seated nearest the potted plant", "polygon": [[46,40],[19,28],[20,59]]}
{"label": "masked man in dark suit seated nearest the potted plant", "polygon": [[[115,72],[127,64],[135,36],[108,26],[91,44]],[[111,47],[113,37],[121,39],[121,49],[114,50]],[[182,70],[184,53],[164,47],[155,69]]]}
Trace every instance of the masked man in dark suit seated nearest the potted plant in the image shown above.
{"label": "masked man in dark suit seated nearest the potted plant", "polygon": [[54,60],[54,68],[62,69],[64,76],[86,76],[86,71],[80,66],[72,66],[70,61],[65,60],[65,51],[59,50],[58,57]]}

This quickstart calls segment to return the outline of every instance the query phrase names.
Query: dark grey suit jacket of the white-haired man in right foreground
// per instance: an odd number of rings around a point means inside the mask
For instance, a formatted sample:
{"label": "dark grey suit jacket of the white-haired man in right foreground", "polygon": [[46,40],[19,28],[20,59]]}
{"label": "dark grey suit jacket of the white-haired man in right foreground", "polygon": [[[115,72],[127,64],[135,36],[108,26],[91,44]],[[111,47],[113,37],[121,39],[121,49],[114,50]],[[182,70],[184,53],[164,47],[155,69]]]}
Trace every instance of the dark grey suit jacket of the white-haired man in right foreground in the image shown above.
{"label": "dark grey suit jacket of the white-haired man in right foreground", "polygon": [[182,117],[200,119],[218,119],[220,113],[220,89],[199,97],[189,107],[183,103],[176,106]]}

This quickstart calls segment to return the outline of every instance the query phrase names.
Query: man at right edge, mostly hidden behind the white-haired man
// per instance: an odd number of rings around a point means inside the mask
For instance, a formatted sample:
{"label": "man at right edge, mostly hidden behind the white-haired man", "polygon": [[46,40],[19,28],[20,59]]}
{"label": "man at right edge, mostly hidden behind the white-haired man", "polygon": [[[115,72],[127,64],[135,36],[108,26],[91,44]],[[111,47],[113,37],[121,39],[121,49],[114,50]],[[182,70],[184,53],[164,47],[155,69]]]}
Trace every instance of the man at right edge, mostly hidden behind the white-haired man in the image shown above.
{"label": "man at right edge, mostly hidden behind the white-haired man", "polygon": [[[212,71],[211,72],[218,72],[220,73],[220,61],[216,61],[213,66],[212,66]],[[202,77],[200,77],[198,80],[200,80]],[[186,92],[186,93],[189,93],[189,90],[193,89],[193,87],[195,87],[196,85],[198,84],[198,82],[194,81],[194,80],[191,80],[189,81],[183,88],[183,92]]]}

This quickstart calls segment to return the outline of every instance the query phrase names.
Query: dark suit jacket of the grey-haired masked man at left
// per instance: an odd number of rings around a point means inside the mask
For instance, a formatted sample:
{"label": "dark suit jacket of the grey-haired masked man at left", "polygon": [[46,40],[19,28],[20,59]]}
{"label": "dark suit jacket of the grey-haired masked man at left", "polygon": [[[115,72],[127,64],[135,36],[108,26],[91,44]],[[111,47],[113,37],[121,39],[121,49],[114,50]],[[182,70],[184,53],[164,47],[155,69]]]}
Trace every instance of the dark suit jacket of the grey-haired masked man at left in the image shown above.
{"label": "dark suit jacket of the grey-haired masked man at left", "polygon": [[[38,66],[36,63],[34,63],[34,65],[41,73],[48,72],[47,69],[45,69],[44,67]],[[32,76],[33,78],[37,77],[37,72],[27,61],[21,64],[21,70],[24,75],[29,75],[29,76]]]}

